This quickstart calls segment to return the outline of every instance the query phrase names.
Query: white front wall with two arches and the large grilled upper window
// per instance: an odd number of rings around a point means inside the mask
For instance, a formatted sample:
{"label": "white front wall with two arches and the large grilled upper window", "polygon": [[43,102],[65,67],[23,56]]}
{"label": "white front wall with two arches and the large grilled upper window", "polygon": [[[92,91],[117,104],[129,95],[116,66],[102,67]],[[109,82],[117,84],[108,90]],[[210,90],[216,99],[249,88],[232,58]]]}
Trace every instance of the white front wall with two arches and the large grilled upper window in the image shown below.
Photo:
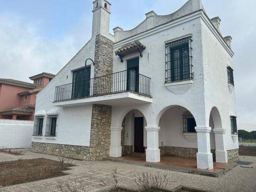
{"label": "white front wall with two arches and the large grilled upper window", "polygon": [[[185,22],[185,23],[184,23]],[[164,85],[165,77],[165,41],[192,34],[192,63],[194,72],[194,84],[182,95],[175,95]],[[158,126],[162,113],[170,106],[180,105],[187,108],[195,117],[198,126],[205,126],[204,117],[204,83],[202,68],[202,47],[200,38],[200,18],[199,15],[190,15],[180,18],[175,23],[168,23],[160,28],[153,29],[145,34],[133,36],[124,41],[114,44],[114,50],[120,48],[127,42],[140,40],[146,45],[143,51],[143,57],[139,57],[139,72],[151,78],[150,88],[152,104],[113,106],[112,125],[120,126],[122,118],[131,109],[140,110],[147,121],[148,126]],[[121,63],[118,56],[114,56],[113,71],[118,72],[126,70],[127,60],[139,56],[131,54],[124,57]]]}

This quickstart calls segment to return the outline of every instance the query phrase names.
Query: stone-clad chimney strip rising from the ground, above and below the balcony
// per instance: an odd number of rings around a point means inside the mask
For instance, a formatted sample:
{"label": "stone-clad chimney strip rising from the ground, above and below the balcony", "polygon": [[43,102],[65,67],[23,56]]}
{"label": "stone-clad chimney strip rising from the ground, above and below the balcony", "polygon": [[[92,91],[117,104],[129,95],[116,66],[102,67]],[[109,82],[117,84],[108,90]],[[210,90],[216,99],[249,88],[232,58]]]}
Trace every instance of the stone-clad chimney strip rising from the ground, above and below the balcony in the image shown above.
{"label": "stone-clad chimney strip rising from the ground, above and below the balcony", "polygon": [[[113,72],[113,42],[108,38],[97,35],[94,54],[94,78],[111,74]],[[94,94],[101,94],[111,90],[106,84],[108,80],[94,79]],[[112,106],[93,104],[90,134],[90,153],[86,160],[102,160],[109,155],[110,126]]]}

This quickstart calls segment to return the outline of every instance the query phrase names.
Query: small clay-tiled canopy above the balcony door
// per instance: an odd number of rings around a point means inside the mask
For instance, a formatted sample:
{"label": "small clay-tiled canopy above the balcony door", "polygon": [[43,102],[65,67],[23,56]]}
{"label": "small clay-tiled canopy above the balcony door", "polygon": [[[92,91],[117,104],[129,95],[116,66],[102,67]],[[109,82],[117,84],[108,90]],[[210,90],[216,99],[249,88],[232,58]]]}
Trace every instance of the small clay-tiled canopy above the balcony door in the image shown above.
{"label": "small clay-tiled canopy above the balcony door", "polygon": [[140,43],[139,40],[136,40],[134,42],[130,42],[119,48],[115,51],[115,54],[118,55],[121,59],[121,62],[123,62],[123,57],[128,54],[132,54],[135,52],[140,52],[140,56],[142,57],[142,51],[146,49],[146,46]]}

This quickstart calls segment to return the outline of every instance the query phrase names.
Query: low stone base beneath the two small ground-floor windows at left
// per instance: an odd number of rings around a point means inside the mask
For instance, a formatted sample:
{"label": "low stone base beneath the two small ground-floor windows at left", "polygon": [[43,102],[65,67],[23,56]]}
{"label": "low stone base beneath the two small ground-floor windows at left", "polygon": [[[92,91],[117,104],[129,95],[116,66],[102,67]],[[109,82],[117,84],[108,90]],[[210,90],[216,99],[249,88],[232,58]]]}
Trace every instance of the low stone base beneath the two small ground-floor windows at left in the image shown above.
{"label": "low stone base beneath the two small ground-floor windows at left", "polygon": [[32,142],[31,151],[79,160],[87,160],[90,157],[90,147],[86,146]]}

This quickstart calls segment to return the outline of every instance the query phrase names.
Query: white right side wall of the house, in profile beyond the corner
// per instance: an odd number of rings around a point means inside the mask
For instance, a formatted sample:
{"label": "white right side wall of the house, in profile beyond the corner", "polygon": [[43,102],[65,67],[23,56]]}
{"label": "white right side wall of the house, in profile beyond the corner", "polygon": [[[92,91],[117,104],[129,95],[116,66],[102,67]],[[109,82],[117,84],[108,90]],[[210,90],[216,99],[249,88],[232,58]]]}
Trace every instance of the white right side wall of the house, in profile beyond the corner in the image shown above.
{"label": "white right side wall of the house, in profile beyond the corner", "polygon": [[206,21],[202,20],[201,23],[206,117],[210,116],[211,109],[215,106],[221,116],[222,129],[226,129],[224,148],[238,148],[238,139],[233,141],[230,126],[230,116],[236,116],[235,90],[230,93],[227,74],[227,66],[233,67],[233,56],[224,40],[216,34],[216,30]]}

